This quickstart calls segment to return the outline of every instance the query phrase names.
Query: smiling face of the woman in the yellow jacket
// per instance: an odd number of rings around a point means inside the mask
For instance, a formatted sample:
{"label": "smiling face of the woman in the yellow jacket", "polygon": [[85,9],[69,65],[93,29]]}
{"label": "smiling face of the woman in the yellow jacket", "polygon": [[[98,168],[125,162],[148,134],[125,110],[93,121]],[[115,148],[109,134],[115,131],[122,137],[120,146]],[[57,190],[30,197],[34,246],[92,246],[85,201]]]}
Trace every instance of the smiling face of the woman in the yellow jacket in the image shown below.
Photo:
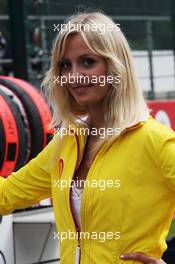
{"label": "smiling face of the woman in the yellow jacket", "polygon": [[66,41],[60,70],[67,80],[63,89],[67,88],[80,105],[99,104],[110,87],[102,81],[107,75],[105,59],[94,54],[78,33]]}

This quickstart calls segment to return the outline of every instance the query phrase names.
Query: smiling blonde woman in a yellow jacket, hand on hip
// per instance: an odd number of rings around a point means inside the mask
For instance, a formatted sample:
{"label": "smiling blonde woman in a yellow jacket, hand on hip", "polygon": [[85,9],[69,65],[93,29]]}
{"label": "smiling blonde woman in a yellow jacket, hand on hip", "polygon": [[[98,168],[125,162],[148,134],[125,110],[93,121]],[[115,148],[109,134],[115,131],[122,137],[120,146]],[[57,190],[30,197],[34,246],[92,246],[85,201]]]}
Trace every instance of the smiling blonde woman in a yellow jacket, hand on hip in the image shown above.
{"label": "smiling blonde woman in a yellow jacket, hand on hip", "polygon": [[71,17],[43,87],[62,126],[0,179],[0,214],[52,196],[61,263],[164,263],[175,134],[149,115],[121,29],[98,12]]}

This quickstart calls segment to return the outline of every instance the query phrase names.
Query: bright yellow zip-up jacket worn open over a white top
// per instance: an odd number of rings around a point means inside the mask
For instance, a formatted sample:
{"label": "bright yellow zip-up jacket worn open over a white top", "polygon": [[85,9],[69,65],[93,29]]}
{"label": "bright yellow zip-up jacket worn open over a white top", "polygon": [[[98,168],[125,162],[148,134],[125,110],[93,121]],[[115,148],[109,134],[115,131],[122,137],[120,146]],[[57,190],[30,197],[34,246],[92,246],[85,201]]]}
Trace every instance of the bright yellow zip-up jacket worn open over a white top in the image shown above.
{"label": "bright yellow zip-up jacket worn open over a white top", "polygon": [[[0,214],[52,196],[59,234],[75,234],[70,185],[59,183],[71,181],[84,141],[83,135],[57,134],[27,165],[7,179],[0,177]],[[160,258],[175,210],[174,131],[151,117],[128,128],[112,146],[102,146],[87,180],[110,180],[116,186],[85,185],[81,232],[93,236],[81,239],[81,264],[125,263],[120,254],[135,251]],[[62,264],[75,264],[77,244],[76,237],[62,240]]]}

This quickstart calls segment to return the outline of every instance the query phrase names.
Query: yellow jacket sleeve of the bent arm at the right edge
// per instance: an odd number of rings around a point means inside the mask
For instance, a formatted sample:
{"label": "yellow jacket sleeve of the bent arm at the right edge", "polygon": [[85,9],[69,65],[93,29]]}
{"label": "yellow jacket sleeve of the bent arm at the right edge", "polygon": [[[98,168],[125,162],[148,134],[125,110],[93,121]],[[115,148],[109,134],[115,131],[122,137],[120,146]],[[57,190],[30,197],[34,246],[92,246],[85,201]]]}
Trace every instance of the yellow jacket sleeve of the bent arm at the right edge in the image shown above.
{"label": "yellow jacket sleeve of the bent arm at the right edge", "polygon": [[158,155],[161,172],[175,196],[175,132],[169,132],[168,136],[161,140]]}

